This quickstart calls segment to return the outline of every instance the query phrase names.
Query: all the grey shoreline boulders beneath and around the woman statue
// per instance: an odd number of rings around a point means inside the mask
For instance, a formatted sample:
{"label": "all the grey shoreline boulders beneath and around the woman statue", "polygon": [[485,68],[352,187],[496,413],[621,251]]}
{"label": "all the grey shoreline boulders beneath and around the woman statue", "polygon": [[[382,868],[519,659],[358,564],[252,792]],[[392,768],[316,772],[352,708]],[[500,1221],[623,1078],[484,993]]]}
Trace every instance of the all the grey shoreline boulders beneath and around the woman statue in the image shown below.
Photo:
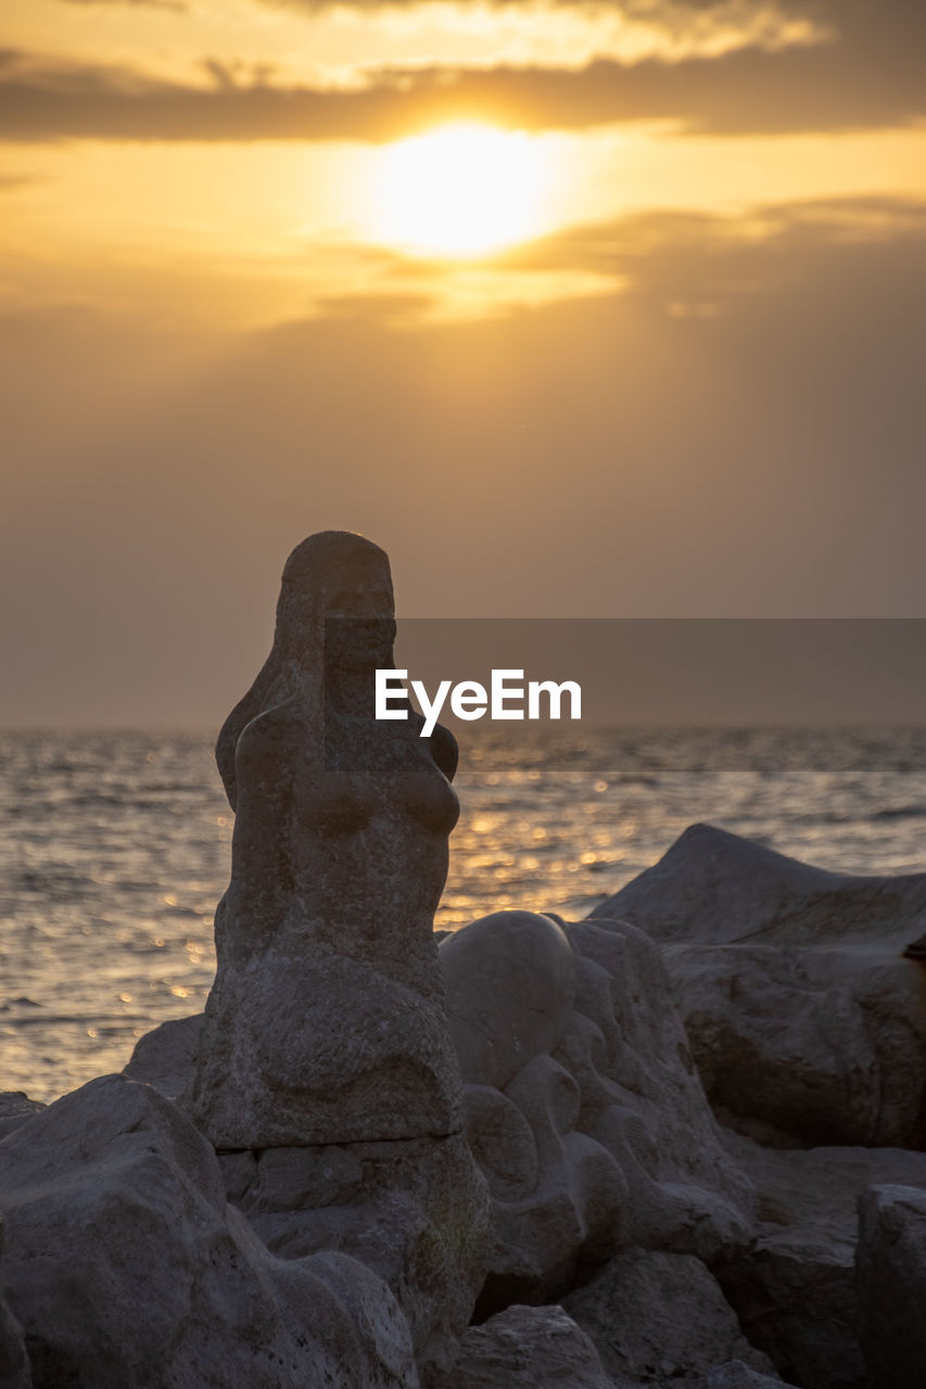
{"label": "all the grey shoreline boulders beneath and around the woman statue", "polygon": [[925,913],[926,875],[694,826],[590,921],[444,938],[466,1283],[448,1140],[217,1153],[178,1106],[202,1018],[4,1096],[0,1385],[913,1389]]}

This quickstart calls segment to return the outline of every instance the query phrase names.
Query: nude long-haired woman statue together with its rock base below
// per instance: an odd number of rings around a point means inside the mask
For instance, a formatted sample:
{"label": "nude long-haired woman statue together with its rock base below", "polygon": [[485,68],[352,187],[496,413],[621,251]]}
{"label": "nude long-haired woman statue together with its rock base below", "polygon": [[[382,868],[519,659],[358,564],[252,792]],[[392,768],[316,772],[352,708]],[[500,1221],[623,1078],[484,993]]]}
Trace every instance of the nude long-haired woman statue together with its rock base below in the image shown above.
{"label": "nude long-haired woman statue together with its rock base below", "polygon": [[463,1136],[432,933],[459,804],[456,743],[374,718],[392,668],[387,556],[324,532],[284,569],[273,650],[218,738],[235,811],[199,1038],[129,1072],[177,1093],[268,1247],[336,1249],[389,1282],[421,1374],[446,1367],[484,1278],[488,1193]]}

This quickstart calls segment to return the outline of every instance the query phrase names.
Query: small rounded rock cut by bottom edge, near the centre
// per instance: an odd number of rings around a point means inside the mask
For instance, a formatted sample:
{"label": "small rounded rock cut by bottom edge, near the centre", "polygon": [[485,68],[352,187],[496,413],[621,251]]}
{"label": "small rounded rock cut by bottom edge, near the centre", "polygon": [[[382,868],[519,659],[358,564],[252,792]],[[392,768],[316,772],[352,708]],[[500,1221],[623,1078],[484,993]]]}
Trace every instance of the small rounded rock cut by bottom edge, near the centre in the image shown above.
{"label": "small rounded rock cut by bottom edge, near the centre", "polygon": [[514,1306],[470,1326],[444,1389],[613,1389],[613,1381],[562,1307]]}

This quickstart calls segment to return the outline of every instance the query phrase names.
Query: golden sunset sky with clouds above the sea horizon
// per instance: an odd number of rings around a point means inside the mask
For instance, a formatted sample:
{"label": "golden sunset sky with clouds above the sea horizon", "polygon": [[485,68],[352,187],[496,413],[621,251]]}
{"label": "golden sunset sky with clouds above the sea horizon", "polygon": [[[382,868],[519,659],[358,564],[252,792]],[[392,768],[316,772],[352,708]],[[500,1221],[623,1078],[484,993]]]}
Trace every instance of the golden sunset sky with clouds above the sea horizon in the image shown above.
{"label": "golden sunset sky with clouds above the sea horizon", "polygon": [[0,726],[220,722],[327,528],[926,617],[920,0],[7,0],[0,208]]}

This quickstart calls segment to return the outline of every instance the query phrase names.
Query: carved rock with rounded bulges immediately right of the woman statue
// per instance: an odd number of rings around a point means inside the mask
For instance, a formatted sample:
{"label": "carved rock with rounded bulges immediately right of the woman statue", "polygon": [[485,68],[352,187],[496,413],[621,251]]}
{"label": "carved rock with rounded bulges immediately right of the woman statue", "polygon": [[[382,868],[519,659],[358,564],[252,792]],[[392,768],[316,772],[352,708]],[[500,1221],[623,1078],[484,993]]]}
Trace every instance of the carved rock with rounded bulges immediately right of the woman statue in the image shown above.
{"label": "carved rock with rounded bulges immediately right of the woman statue", "polygon": [[[478,1001],[467,1014],[485,972],[478,940],[488,942],[494,1006],[505,1011],[507,999],[520,1017],[533,928],[527,913],[512,915],[507,942],[499,913],[441,945],[452,951],[449,1008],[464,1043],[481,1017]],[[555,1007],[505,1024],[503,1035],[496,1025],[495,1045],[464,1060],[482,1078],[466,1086],[467,1140],[492,1193],[484,1314],[556,1297],[628,1243],[713,1257],[742,1242],[749,1222],[749,1186],[723,1151],[658,947],[613,922],[559,932],[546,917],[533,921],[541,947],[552,947],[555,964],[542,968],[558,981]],[[514,1056],[521,1067],[509,1078]],[[492,1074],[502,1089],[484,1083]]]}

